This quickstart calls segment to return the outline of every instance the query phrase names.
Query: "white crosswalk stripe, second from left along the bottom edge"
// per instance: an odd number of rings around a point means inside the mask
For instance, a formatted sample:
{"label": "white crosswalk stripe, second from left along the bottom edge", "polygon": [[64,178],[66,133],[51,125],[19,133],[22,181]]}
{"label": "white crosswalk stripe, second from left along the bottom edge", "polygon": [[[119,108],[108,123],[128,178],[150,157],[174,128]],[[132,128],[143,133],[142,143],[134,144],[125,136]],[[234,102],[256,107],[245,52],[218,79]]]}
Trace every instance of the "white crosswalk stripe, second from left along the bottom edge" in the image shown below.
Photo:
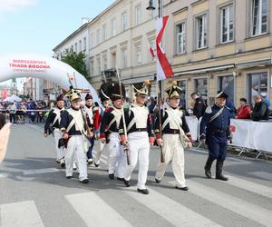
{"label": "white crosswalk stripe, second from left along the bottom edge", "polygon": [[131,226],[94,192],[65,195],[65,198],[87,226]]}

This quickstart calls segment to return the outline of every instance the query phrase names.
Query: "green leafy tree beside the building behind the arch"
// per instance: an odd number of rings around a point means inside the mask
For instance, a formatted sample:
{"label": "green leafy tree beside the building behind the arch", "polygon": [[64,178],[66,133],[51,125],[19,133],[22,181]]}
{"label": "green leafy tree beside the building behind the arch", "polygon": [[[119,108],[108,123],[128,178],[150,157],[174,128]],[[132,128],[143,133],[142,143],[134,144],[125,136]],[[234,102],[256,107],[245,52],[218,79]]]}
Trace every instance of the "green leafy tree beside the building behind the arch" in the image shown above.
{"label": "green leafy tree beside the building behind the arch", "polygon": [[71,65],[77,72],[83,74],[87,80],[90,80],[90,76],[87,72],[86,67],[86,57],[87,55],[83,52],[79,54],[73,52],[72,50],[66,49],[62,61],[66,64]]}

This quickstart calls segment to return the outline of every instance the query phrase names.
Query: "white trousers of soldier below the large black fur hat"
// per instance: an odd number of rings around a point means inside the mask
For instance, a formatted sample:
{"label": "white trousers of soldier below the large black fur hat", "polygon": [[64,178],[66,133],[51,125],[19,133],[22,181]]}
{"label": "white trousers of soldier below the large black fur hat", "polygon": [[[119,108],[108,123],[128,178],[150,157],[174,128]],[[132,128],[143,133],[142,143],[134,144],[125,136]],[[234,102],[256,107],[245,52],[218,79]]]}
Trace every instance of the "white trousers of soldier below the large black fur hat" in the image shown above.
{"label": "white trousers of soldier below the large black fur hat", "polygon": [[123,146],[120,144],[119,133],[111,133],[109,139],[110,142],[107,144],[109,149],[109,174],[114,173],[116,163],[118,163],[118,177],[123,178],[126,168],[126,159],[123,153]]}

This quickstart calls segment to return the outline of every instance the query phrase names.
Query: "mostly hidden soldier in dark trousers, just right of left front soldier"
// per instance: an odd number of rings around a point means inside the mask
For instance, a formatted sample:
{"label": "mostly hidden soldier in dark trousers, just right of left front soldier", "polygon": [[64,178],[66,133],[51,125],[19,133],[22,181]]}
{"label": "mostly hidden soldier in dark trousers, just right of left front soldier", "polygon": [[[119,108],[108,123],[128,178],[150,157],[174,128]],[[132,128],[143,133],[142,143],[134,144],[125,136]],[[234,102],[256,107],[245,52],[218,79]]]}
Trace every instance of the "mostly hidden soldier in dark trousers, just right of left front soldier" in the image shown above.
{"label": "mostly hidden soldier in dark trousers, just right of left front soldier", "polygon": [[[84,105],[84,111],[87,114],[89,121],[91,124],[93,124],[93,100],[92,100],[92,95],[91,94],[86,94],[85,96],[85,105]],[[90,140],[90,147],[87,152],[87,159],[88,159],[88,164],[92,163],[92,149],[94,145],[94,137],[88,137]]]}

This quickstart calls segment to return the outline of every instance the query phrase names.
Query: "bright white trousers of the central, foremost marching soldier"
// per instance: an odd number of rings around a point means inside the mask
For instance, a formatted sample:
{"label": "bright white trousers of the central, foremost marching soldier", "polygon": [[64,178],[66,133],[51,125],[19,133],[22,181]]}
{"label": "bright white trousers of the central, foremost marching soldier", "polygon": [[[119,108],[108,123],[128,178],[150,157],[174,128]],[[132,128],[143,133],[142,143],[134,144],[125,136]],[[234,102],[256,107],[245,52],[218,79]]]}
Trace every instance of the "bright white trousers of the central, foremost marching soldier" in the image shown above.
{"label": "bright white trousers of the central, foremost marching soldier", "polygon": [[147,132],[135,132],[128,135],[130,146],[131,165],[127,165],[125,172],[125,180],[131,180],[131,173],[133,172],[139,159],[139,173],[138,173],[138,188],[145,189],[147,173],[149,170],[149,154],[150,142]]}

